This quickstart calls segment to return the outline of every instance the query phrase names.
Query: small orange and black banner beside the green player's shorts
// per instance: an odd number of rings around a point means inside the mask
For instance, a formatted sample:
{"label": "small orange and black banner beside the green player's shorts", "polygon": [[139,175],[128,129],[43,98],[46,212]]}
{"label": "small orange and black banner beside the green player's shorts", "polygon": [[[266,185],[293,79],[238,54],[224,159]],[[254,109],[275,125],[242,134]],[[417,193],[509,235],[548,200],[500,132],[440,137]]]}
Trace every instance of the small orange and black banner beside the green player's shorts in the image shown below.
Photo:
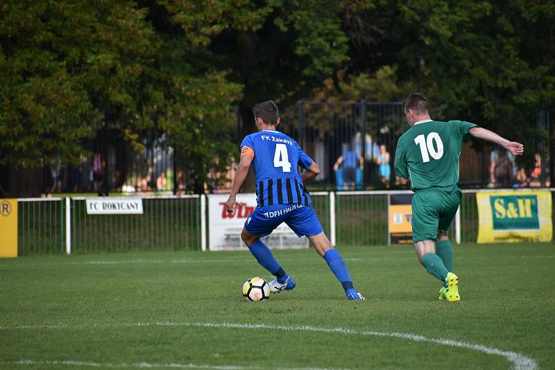
{"label": "small orange and black banner beside the green player's shorts", "polygon": [[412,194],[389,195],[389,244],[412,244]]}

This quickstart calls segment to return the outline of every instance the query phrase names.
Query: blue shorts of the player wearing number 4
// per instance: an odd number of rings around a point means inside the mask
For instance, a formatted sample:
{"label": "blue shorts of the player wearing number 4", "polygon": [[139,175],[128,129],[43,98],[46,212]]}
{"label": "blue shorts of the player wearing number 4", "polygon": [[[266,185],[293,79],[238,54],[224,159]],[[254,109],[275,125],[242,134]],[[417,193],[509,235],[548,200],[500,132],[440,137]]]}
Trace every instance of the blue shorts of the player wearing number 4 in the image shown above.
{"label": "blue shorts of the player wearing number 4", "polygon": [[323,231],[314,208],[301,204],[256,207],[245,221],[245,229],[250,234],[264,237],[282,222],[291,227],[299,238],[318,235]]}

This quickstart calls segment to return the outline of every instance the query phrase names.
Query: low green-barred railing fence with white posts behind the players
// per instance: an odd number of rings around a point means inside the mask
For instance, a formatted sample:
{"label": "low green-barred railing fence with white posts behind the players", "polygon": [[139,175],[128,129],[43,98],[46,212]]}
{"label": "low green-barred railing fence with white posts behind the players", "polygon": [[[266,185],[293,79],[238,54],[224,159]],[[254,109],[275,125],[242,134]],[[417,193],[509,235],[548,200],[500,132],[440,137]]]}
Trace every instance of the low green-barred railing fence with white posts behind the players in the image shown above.
{"label": "low green-barred railing fence with white posts behind the players", "polygon": [[[545,190],[545,189],[543,189]],[[555,189],[552,220],[555,220]],[[407,191],[313,192],[312,204],[322,227],[337,245],[386,245],[388,196]],[[476,243],[476,191],[463,191],[461,243]],[[143,197],[141,215],[88,215],[85,197],[18,200],[18,255],[126,252],[132,250],[200,250],[206,245],[203,196]],[[70,204],[67,209],[67,204]],[[204,210],[205,211],[205,210]],[[69,215],[69,224],[68,222]],[[69,229],[68,229],[69,227]],[[456,222],[450,236],[456,240]],[[555,227],[555,223],[554,223]]]}

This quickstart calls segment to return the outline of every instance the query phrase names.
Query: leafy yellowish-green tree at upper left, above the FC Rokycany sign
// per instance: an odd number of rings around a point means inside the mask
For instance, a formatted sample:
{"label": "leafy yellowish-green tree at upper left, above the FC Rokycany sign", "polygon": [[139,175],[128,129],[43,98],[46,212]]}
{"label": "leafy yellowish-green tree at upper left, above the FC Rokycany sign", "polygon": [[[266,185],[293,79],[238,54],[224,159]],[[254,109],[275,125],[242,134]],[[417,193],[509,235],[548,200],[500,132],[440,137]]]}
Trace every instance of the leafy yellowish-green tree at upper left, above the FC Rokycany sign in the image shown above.
{"label": "leafy yellowish-green tree at upper left, above the FC Rokycany sign", "polygon": [[9,138],[0,141],[0,163],[12,167],[13,195],[37,195],[37,182],[15,184],[36,172],[25,169],[77,161],[83,139],[101,127],[139,146],[146,130],[167,132],[169,143],[187,148],[196,188],[214,157],[228,163],[230,141],[219,139],[241,88],[183,33],[168,35],[148,16],[133,1],[0,8],[0,135]]}

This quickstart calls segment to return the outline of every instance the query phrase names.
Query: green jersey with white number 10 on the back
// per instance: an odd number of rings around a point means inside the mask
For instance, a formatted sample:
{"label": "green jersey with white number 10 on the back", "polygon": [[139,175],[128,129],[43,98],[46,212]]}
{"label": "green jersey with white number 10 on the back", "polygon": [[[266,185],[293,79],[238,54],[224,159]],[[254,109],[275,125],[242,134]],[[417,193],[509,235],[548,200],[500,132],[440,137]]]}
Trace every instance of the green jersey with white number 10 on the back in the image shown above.
{"label": "green jersey with white number 10 on the back", "polygon": [[413,125],[397,143],[395,176],[410,177],[413,191],[456,190],[461,144],[472,127],[477,125],[465,121],[424,121]]}

